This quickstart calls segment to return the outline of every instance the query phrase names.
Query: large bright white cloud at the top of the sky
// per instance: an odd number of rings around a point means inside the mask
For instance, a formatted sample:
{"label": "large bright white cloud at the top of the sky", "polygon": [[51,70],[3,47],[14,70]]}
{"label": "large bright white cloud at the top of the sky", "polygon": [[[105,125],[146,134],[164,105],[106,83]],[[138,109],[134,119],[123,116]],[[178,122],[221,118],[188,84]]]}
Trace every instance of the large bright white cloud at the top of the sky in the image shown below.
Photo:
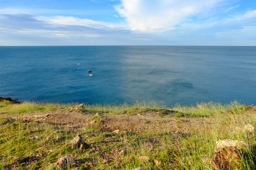
{"label": "large bright white cloud at the top of the sky", "polygon": [[215,7],[223,0],[121,0],[116,11],[132,30],[172,30],[188,17]]}

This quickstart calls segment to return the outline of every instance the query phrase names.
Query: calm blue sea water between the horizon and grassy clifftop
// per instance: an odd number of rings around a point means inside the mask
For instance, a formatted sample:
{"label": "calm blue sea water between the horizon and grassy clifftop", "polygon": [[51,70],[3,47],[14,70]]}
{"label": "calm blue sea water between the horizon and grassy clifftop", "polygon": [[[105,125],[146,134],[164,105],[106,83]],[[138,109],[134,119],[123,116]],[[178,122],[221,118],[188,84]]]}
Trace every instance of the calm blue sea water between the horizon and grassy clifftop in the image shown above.
{"label": "calm blue sea water between the horizon and grassy clifftop", "polygon": [[87,104],[256,104],[256,47],[0,47],[0,96]]}

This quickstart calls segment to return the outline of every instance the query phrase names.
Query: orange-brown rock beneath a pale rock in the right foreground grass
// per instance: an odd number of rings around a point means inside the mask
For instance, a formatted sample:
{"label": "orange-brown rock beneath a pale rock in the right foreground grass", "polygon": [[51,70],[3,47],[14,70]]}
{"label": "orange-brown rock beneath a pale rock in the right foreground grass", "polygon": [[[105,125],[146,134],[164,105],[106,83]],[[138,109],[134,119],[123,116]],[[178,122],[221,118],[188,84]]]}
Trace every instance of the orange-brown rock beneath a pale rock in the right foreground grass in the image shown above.
{"label": "orange-brown rock beneath a pale rock in the right foreground grass", "polygon": [[215,170],[239,170],[240,162],[240,150],[233,146],[222,148],[210,161]]}

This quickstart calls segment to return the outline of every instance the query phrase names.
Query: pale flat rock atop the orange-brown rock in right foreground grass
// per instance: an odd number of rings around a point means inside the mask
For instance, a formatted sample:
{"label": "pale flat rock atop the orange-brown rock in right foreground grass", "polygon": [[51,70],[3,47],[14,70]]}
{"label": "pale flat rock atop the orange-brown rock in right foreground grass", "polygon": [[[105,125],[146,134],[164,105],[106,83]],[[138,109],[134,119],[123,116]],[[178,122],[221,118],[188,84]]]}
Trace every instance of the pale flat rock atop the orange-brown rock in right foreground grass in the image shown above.
{"label": "pale flat rock atop the orange-brown rock in right foreground grass", "polygon": [[238,149],[249,147],[249,145],[247,143],[245,143],[244,141],[225,139],[225,140],[219,140],[216,142],[215,152],[218,152],[222,148],[230,147],[230,146],[238,148]]}

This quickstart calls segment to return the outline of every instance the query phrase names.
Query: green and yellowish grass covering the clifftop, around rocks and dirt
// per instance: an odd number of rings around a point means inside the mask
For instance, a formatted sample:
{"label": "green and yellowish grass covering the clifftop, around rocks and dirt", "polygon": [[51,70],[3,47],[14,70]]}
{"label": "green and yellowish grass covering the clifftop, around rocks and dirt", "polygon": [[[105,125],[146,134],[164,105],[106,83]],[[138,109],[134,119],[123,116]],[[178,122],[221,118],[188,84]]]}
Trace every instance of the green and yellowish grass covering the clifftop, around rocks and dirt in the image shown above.
{"label": "green and yellowish grass covering the clifftop, around rocks and dirt", "polygon": [[[24,122],[21,119],[1,117],[12,114],[30,114],[58,108],[70,110],[69,105],[54,103],[11,104],[0,102],[0,169],[57,170],[53,165],[64,155],[72,156],[82,170],[132,170],[143,167],[146,170],[213,170],[209,161],[213,157],[215,143],[221,139],[242,140],[252,148],[245,150],[240,170],[255,170],[256,136],[242,131],[245,124],[256,127],[256,114],[238,102],[227,105],[220,103],[198,103],[196,106],[180,106],[165,109],[156,103],[118,105],[85,105],[81,113],[100,113],[103,116],[129,115],[157,112],[161,119],[175,119],[178,131],[112,131],[100,128],[101,116],[91,116],[95,126],[74,128],[66,125]],[[150,122],[145,122],[150,125]],[[89,150],[72,149],[67,143],[80,134],[92,147]],[[31,136],[41,139],[29,140]],[[60,136],[61,139],[57,139]],[[17,163],[20,156],[38,157],[27,163]],[[141,157],[142,156],[142,157]],[[142,159],[144,156],[144,159]],[[74,168],[74,166],[71,168]],[[71,169],[70,168],[70,169]]]}

